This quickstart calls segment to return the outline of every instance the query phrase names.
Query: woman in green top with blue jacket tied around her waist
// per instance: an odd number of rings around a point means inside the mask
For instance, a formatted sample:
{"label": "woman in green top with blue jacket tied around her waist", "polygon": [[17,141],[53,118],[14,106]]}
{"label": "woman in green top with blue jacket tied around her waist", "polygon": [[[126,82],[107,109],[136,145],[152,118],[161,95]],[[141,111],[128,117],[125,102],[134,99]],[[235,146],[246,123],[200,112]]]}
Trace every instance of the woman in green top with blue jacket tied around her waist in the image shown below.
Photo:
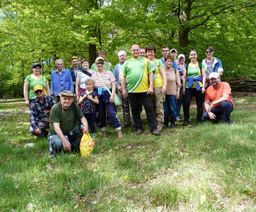
{"label": "woman in green top with blue jacket tied around her waist", "polygon": [[197,125],[201,124],[203,116],[203,94],[206,92],[206,67],[197,62],[197,50],[190,50],[189,58],[191,62],[185,66],[183,75],[183,126],[189,124],[189,107],[192,96],[195,96],[197,104]]}

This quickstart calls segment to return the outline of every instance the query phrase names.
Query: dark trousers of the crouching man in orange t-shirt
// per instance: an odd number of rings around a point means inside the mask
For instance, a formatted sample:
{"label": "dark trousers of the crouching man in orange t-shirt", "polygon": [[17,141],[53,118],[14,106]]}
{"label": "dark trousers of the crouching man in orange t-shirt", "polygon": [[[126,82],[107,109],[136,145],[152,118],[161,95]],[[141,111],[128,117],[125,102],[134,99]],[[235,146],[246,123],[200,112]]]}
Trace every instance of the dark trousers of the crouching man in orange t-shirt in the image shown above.
{"label": "dark trousers of the crouching man in orange t-shirt", "polygon": [[223,123],[227,123],[230,124],[230,113],[234,110],[234,106],[232,103],[230,102],[222,102],[220,103],[220,107],[216,108],[216,107],[212,107],[211,108],[211,113],[214,113],[214,115],[216,116],[215,119],[211,119],[208,116],[207,111],[205,111],[205,113],[203,113],[203,118],[207,119],[207,120],[211,120],[211,121],[219,121],[220,116],[223,116]]}

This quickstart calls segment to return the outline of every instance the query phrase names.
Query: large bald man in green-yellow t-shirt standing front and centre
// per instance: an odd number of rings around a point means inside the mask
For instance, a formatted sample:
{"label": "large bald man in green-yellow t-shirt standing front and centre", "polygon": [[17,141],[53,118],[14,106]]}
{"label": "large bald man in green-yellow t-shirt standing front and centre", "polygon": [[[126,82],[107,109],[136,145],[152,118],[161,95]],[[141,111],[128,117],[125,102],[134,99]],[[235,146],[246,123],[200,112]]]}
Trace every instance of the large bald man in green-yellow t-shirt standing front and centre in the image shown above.
{"label": "large bald man in green-yellow t-shirt standing front and centre", "polygon": [[[137,129],[136,134],[143,133],[143,125],[139,112],[139,100],[144,105],[147,121],[151,132],[154,135],[160,135],[157,131],[157,122],[154,116],[154,110],[151,103],[151,94],[154,93],[153,83],[154,75],[151,70],[150,62],[147,58],[140,57],[140,47],[132,45],[132,58],[124,62],[123,75],[121,76],[121,91],[125,99],[129,96],[129,102],[132,107],[132,117]],[[127,80],[127,91],[125,89]]]}

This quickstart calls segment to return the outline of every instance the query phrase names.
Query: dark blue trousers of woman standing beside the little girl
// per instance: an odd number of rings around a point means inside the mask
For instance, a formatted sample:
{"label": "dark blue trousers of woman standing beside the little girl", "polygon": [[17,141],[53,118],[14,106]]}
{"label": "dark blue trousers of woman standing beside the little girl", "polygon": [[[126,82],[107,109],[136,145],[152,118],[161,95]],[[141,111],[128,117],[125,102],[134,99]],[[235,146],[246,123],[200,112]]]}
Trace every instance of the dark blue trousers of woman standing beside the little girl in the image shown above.
{"label": "dark blue trousers of woman standing beside the little girl", "polygon": [[118,128],[121,126],[120,121],[118,120],[117,114],[116,114],[116,105],[114,103],[110,104],[105,103],[103,100],[103,96],[99,97],[99,124],[100,127],[107,126],[106,124],[106,110],[108,112],[108,118],[110,121],[110,124],[113,126],[113,128]]}

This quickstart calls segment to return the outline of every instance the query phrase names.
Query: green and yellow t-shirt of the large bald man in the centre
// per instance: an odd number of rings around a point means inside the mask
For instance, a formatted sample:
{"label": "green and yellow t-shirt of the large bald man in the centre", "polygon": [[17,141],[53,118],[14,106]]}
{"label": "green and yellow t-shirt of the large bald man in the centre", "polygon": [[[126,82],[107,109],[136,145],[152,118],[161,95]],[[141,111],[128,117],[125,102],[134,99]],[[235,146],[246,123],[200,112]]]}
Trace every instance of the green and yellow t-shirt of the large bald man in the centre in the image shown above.
{"label": "green and yellow t-shirt of the large bald man in the centre", "polygon": [[127,76],[128,93],[147,92],[149,88],[148,73],[152,72],[147,58],[130,58],[124,62],[123,75]]}

